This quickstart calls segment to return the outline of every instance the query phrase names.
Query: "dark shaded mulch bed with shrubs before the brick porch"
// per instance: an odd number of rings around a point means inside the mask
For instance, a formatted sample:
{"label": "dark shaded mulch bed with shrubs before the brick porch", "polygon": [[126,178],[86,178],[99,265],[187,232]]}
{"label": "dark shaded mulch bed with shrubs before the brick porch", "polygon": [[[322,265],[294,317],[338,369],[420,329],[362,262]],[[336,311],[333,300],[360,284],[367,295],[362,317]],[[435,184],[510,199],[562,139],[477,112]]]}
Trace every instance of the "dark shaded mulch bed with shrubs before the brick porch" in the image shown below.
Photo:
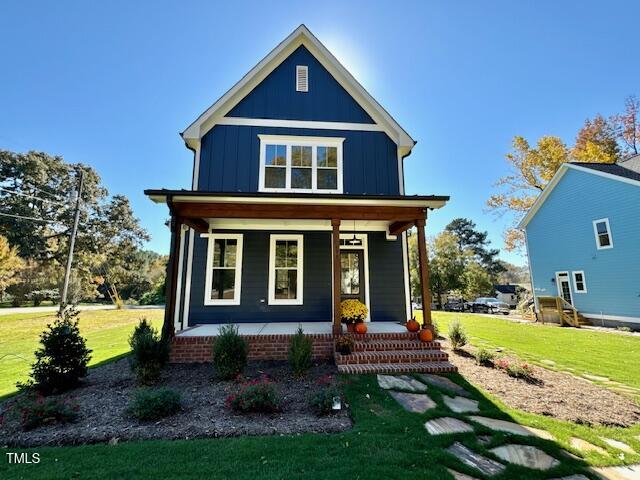
{"label": "dark shaded mulch bed with shrubs before the brick porch", "polygon": [[[284,398],[282,411],[274,414],[235,414],[226,399],[237,386],[218,381],[210,364],[169,365],[159,386],[182,394],[182,411],[155,422],[140,422],[126,414],[136,389],[135,379],[126,359],[89,370],[83,385],[68,392],[80,405],[73,423],[40,427],[24,432],[17,420],[0,423],[0,446],[77,445],[137,439],[188,439],[237,435],[291,435],[305,432],[341,432],[351,428],[349,413],[317,416],[308,407],[308,399],[320,387],[317,381],[335,375],[336,367],[328,363],[315,365],[298,379],[286,362],[254,362],[245,378],[267,374],[277,383]],[[5,410],[8,400],[0,404]],[[6,416],[5,416],[6,417]]]}

